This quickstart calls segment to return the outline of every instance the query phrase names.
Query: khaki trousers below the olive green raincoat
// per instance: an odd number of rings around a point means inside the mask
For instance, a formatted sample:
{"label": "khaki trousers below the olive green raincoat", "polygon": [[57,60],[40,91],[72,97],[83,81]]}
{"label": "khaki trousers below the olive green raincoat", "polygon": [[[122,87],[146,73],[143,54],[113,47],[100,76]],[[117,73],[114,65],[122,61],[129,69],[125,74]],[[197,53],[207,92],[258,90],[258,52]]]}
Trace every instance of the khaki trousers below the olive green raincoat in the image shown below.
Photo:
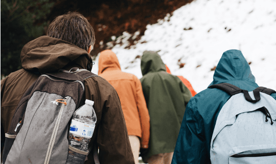
{"label": "khaki trousers below the olive green raincoat", "polygon": [[147,160],[149,164],[171,164],[173,152],[160,153],[149,157]]}

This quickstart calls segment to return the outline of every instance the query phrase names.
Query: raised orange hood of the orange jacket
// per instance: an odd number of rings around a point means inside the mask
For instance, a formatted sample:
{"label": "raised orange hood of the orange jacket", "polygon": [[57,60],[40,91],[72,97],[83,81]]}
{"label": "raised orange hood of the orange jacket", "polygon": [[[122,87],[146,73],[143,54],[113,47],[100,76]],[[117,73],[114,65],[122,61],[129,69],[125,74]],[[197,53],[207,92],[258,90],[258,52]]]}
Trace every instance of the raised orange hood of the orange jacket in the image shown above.
{"label": "raised orange hood of the orange jacket", "polygon": [[121,70],[119,60],[114,52],[111,50],[104,50],[99,56],[99,72],[103,73],[106,69]]}

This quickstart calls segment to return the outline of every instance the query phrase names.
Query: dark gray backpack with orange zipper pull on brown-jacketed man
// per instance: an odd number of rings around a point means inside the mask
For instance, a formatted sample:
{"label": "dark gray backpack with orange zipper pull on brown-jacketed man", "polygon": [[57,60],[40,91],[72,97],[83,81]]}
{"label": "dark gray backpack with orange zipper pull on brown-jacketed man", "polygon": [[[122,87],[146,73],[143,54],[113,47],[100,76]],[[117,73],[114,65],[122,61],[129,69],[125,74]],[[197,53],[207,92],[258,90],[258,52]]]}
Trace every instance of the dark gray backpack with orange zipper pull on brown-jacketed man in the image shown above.
{"label": "dark gray backpack with orange zipper pull on brown-jacketed man", "polygon": [[71,163],[68,154],[86,157],[88,151],[70,147],[67,136],[83,101],[83,80],[91,76],[98,75],[78,68],[42,74],[19,101],[5,134],[3,164],[65,164]]}

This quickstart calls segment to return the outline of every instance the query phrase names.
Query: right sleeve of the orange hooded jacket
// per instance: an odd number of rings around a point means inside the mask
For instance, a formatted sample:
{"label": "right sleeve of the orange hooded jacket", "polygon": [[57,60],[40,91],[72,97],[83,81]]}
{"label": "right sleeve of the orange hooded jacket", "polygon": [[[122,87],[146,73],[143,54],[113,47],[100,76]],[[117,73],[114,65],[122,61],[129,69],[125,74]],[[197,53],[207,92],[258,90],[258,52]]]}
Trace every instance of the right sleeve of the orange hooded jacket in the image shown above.
{"label": "right sleeve of the orange hooded jacket", "polygon": [[136,105],[139,111],[142,138],[141,138],[141,148],[147,149],[149,147],[149,137],[150,137],[150,117],[147,108],[146,100],[143,94],[142,85],[140,80],[135,76],[135,86],[136,86]]}

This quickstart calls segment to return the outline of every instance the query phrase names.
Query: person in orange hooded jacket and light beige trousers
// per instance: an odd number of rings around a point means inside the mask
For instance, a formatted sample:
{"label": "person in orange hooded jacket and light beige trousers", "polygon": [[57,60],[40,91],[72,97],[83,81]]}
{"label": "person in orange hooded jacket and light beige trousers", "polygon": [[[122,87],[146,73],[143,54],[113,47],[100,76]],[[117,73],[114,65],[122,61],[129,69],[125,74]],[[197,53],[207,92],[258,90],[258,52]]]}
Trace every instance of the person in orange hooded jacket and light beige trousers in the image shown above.
{"label": "person in orange hooded jacket and light beige trousers", "polygon": [[140,147],[148,148],[150,136],[150,118],[141,82],[135,75],[121,71],[119,60],[111,50],[100,53],[98,74],[105,78],[118,93],[132,153],[135,163],[138,164]]}

